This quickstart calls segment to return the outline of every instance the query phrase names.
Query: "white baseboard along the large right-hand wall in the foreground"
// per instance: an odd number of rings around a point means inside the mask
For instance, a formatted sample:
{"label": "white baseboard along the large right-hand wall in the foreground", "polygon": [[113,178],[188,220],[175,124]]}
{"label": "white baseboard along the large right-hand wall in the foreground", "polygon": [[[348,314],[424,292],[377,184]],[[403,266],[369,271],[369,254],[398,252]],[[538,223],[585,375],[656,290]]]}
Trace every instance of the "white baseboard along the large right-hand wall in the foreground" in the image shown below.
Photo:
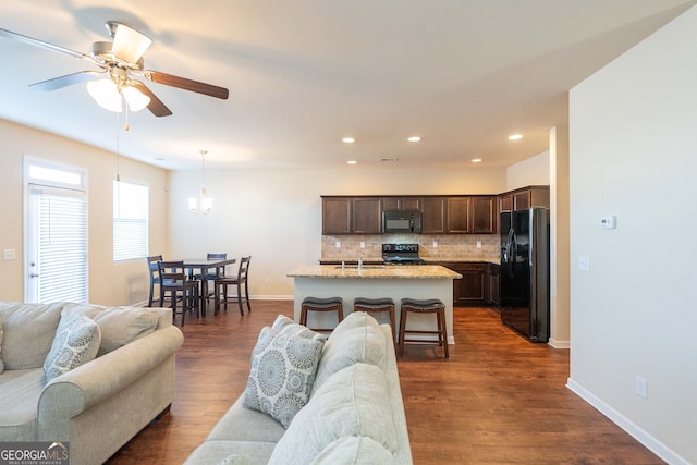
{"label": "white baseboard along the large right-hand wall in the foreground", "polygon": [[685,458],[677,455],[675,452],[665,446],[665,444],[653,438],[651,435],[646,432],[624,415],[620,414],[610,405],[596,397],[591,392],[587,391],[584,387],[578,384],[573,379],[568,378],[566,380],[566,388],[568,388],[580,399],[592,405],[598,412],[603,414],[615,425],[625,430],[629,436],[644,444],[646,449],[653,452],[661,460],[672,465],[689,465],[689,462],[687,462]]}

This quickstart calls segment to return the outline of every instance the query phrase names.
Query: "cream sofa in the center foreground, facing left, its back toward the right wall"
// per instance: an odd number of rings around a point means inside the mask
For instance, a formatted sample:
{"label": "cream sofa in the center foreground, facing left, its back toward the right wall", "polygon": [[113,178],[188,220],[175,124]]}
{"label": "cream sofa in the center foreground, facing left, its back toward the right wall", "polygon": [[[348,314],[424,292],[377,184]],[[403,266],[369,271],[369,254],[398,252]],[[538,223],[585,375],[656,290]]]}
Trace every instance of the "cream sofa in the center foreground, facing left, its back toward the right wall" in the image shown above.
{"label": "cream sofa in the center foreground, facing left, its back toward the right wall", "polygon": [[[283,316],[272,328],[281,333],[309,331]],[[262,336],[264,330],[260,341]],[[255,354],[250,379],[258,364]],[[350,314],[321,347],[310,382],[309,400],[288,429],[244,406],[249,383],[185,464],[412,463],[388,325],[365,313]]]}

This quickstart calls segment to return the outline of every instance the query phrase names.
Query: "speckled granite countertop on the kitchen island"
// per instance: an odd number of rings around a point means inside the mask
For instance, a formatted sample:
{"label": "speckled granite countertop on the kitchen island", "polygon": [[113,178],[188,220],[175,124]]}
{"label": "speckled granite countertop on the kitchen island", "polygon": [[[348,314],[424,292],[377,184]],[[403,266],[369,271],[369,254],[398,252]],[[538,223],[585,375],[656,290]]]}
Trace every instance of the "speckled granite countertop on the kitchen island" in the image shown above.
{"label": "speckled granite countertop on the kitchen island", "polygon": [[461,279],[462,274],[439,265],[305,265],[286,274],[289,278],[389,278],[389,279]]}

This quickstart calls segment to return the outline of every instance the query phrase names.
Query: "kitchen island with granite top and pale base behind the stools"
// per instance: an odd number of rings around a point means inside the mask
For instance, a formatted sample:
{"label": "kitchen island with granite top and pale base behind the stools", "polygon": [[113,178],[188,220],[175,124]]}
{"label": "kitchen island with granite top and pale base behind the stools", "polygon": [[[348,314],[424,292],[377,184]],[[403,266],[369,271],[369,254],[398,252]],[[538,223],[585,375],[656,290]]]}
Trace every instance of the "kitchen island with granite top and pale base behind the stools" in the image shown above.
{"label": "kitchen island with granite top and pale base behind the stools", "polygon": [[[445,304],[448,343],[454,344],[453,335],[453,280],[462,274],[438,265],[307,265],[290,273],[294,280],[294,318],[299,321],[301,304],[305,297],[341,297],[344,317],[353,311],[356,297],[391,297],[395,305],[396,326],[400,326],[400,301],[409,298],[439,298]],[[386,314],[387,316],[387,314]],[[310,313],[309,327],[322,328],[335,325],[333,315]],[[389,322],[387,318],[380,322]],[[433,315],[409,315],[409,329],[436,329]],[[424,338],[428,339],[428,338]]]}

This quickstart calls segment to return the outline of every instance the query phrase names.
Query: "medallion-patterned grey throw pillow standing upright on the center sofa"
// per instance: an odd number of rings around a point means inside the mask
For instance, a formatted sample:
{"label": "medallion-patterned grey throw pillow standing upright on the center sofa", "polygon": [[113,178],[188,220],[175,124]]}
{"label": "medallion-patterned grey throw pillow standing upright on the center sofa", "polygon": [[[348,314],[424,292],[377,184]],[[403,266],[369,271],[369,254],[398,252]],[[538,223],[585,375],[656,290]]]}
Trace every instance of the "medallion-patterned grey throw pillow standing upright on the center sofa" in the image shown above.
{"label": "medallion-patterned grey throw pillow standing upright on the center sofa", "polygon": [[252,354],[243,405],[264,412],[284,428],[307,403],[325,341],[264,327]]}

